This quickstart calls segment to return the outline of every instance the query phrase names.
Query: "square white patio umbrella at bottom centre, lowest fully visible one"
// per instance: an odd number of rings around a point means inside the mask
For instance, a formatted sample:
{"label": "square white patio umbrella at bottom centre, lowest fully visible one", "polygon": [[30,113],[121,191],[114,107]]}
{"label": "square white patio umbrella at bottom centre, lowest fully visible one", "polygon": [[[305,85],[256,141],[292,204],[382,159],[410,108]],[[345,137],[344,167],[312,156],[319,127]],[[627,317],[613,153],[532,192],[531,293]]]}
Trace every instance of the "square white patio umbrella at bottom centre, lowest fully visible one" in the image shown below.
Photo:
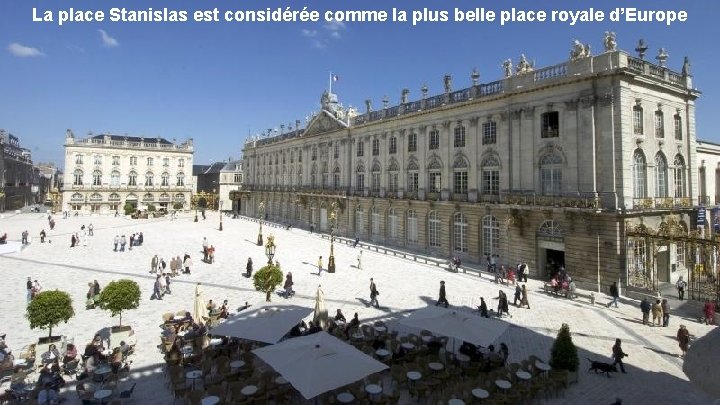
{"label": "square white patio umbrella at bottom centre, lowest fully visible one", "polygon": [[354,383],[387,366],[353,346],[318,332],[253,350],[306,399]]}

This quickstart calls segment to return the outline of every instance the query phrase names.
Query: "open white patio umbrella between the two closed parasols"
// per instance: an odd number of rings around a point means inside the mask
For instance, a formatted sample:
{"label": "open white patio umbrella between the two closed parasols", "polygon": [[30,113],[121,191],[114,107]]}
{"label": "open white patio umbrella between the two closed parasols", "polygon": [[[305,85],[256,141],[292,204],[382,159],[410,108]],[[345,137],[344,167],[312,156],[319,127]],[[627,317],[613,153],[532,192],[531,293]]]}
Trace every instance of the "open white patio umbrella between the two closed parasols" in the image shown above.
{"label": "open white patio umbrella between the two closed parasols", "polygon": [[312,313],[312,308],[297,305],[261,307],[229,317],[210,330],[211,335],[229,336],[274,344],[293,326]]}

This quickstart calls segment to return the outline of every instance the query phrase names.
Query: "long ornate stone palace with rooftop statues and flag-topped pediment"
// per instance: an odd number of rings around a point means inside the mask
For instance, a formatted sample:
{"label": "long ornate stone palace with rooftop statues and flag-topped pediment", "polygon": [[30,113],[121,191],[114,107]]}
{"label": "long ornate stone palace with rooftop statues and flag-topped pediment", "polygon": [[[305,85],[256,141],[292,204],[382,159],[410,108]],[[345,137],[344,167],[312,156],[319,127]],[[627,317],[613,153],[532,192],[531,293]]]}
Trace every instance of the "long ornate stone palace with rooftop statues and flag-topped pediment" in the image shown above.
{"label": "long ornate stone palace with rooftop statues and flag-topped pediment", "polygon": [[[585,288],[688,275],[697,228],[695,100],[681,72],[616,49],[358,114],[325,92],[306,128],[246,142],[240,212],[484,265],[560,266]],[[694,233],[695,232],[695,233]],[[698,233],[699,232],[699,233]],[[675,239],[673,239],[673,237]],[[680,239],[678,239],[680,238]],[[682,239],[686,238],[686,239]],[[682,242],[680,241],[682,239]],[[687,243],[686,243],[687,242]],[[695,246],[695,245],[693,245]],[[692,274],[690,274],[692,276]]]}

